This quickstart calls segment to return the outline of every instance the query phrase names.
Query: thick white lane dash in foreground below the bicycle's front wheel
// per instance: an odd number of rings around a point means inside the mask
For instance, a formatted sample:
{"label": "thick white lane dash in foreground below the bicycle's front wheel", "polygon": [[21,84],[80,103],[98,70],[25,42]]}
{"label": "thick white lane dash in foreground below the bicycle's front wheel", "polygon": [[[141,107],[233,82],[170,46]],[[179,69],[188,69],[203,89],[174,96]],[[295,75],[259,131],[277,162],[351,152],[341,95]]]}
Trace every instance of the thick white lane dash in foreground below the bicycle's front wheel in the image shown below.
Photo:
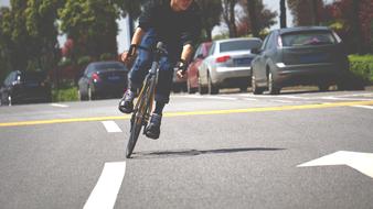
{"label": "thick white lane dash in foreground below the bicycle's front wheel", "polygon": [[83,209],[113,209],[125,172],[126,162],[105,163],[103,173]]}

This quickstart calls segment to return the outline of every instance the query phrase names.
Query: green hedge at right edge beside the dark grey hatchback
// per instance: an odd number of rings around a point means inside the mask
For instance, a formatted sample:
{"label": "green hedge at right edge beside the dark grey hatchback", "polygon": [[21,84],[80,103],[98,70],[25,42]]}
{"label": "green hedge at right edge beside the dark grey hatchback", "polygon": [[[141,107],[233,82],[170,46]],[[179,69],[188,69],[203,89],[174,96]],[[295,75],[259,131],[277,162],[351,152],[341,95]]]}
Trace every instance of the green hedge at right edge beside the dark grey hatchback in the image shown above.
{"label": "green hedge at right edge beside the dark grey hatchback", "polygon": [[373,55],[349,55],[350,72],[364,80],[373,84]]}

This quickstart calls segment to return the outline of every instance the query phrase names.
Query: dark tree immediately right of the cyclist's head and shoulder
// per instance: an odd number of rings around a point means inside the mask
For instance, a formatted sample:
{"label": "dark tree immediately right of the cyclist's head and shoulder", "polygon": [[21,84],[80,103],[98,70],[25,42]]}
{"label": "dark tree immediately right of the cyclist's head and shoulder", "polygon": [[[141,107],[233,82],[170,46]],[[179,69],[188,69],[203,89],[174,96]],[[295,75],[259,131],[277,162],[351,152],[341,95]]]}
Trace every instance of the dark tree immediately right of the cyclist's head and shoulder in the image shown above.
{"label": "dark tree immediately right of the cyclist's head and shoulder", "polygon": [[212,30],[220,24],[223,11],[221,0],[196,0],[201,8],[202,28],[205,31],[206,40],[212,40]]}

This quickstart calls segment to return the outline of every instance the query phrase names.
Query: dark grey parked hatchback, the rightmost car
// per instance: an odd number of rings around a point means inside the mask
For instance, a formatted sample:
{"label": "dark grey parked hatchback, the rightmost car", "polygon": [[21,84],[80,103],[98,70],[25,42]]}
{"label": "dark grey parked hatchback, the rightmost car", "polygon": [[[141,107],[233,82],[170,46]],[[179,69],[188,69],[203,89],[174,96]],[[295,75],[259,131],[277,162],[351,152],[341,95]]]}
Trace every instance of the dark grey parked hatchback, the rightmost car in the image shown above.
{"label": "dark grey parked hatchback, the rightmost car", "polygon": [[255,95],[268,89],[278,95],[286,86],[317,85],[321,91],[332,84],[343,86],[349,61],[341,38],[326,26],[271,31],[253,61]]}

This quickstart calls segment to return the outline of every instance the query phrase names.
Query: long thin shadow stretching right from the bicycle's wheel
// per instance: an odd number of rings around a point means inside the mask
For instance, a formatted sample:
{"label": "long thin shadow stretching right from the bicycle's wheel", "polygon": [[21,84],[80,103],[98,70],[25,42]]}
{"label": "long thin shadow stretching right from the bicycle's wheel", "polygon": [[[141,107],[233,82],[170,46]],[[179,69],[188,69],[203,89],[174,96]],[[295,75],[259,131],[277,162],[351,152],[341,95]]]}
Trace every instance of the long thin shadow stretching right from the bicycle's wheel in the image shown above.
{"label": "long thin shadow stretching right from the bicycle's wheel", "polygon": [[243,148],[217,148],[217,150],[175,150],[175,151],[148,151],[148,152],[134,152],[132,160],[145,158],[167,158],[167,157],[188,157],[209,154],[231,154],[244,152],[262,152],[262,151],[284,151],[286,148],[276,147],[243,147]]}

